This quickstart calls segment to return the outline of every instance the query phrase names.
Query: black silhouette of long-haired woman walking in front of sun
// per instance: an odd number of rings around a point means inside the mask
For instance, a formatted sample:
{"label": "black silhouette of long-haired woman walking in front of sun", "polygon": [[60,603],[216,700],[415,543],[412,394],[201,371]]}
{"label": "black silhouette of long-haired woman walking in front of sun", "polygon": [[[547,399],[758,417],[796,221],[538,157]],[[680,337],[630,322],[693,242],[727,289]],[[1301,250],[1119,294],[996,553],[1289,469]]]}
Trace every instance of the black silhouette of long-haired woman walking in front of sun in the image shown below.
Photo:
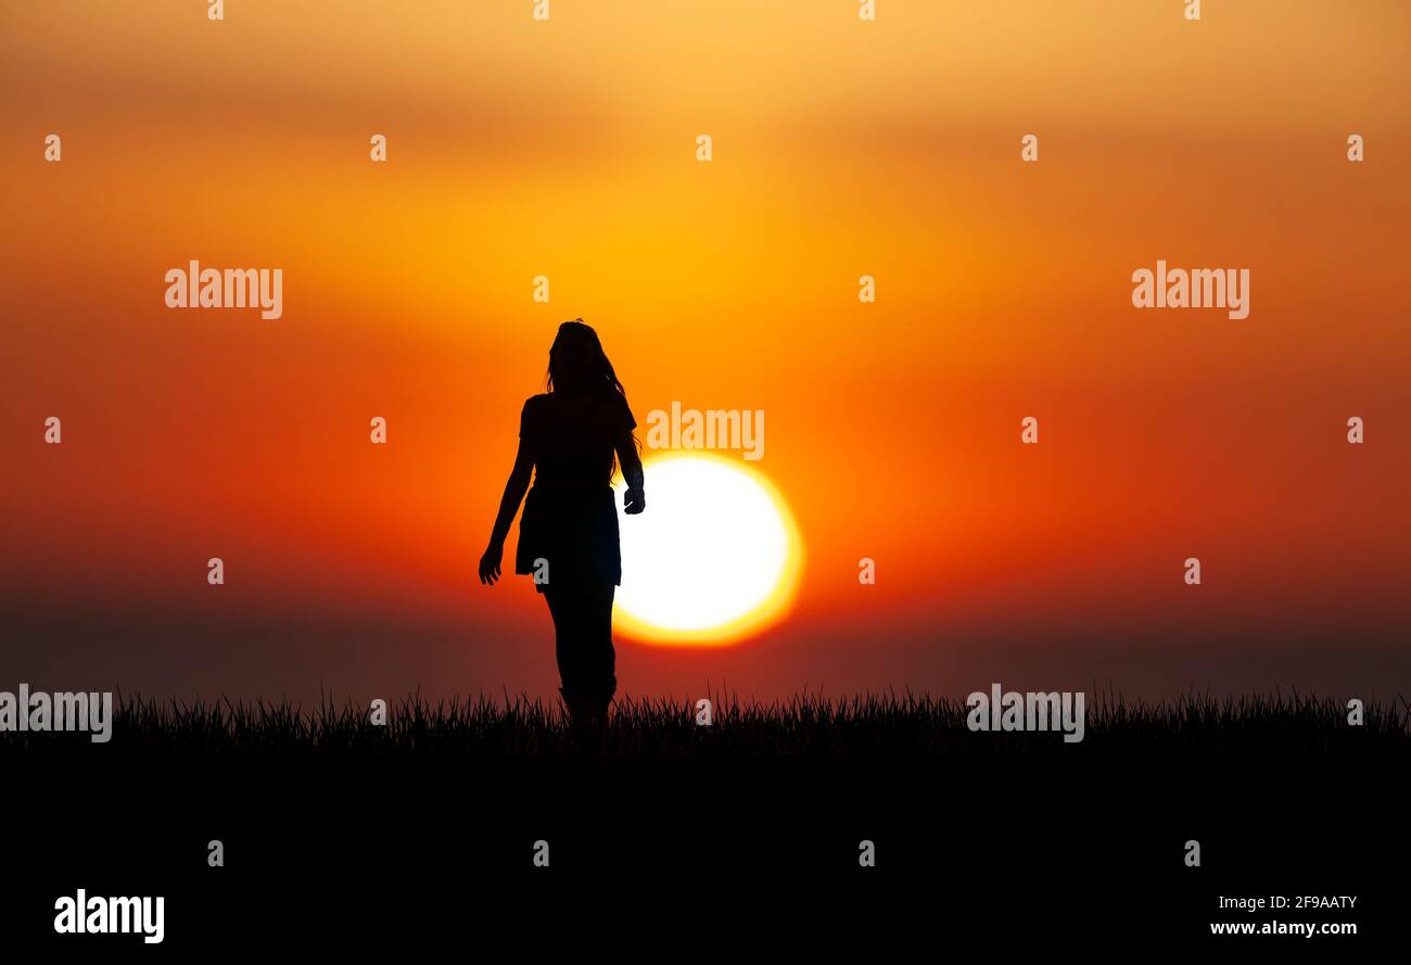
{"label": "black silhouette of long-haired woman walking in front of sun", "polygon": [[600,734],[617,693],[612,594],[622,583],[614,453],[626,481],[624,511],[642,512],[642,460],[636,419],[597,333],[583,319],[564,322],[549,348],[549,391],[525,402],[519,453],[499,499],[480,581],[499,578],[509,523],[519,521],[515,573],[535,577],[557,638],[563,703],[580,732]]}

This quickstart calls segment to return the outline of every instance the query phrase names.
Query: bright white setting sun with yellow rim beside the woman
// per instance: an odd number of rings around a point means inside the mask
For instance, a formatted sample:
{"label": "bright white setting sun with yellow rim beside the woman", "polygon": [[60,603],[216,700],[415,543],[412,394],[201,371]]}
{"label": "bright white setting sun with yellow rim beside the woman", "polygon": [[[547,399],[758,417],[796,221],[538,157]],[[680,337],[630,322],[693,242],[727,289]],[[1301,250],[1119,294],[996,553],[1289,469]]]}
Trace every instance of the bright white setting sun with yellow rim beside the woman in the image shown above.
{"label": "bright white setting sun with yellow rim beside the woman", "polygon": [[658,643],[732,643],[783,615],[803,547],[759,473],[698,453],[648,460],[646,511],[622,515],[614,625]]}

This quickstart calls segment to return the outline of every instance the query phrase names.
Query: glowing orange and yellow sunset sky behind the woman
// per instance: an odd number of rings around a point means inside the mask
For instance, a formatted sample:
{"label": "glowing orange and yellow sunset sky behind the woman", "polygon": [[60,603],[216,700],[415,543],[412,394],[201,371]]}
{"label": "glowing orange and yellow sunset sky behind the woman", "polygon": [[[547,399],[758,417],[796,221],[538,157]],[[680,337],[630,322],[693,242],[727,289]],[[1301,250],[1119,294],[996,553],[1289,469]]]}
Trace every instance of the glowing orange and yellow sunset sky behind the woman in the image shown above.
{"label": "glowing orange and yellow sunset sky behind the woman", "polygon": [[[473,571],[581,316],[639,422],[768,413],[809,547],[769,633],[622,642],[631,693],[1394,691],[1411,10],[1181,6],[6,4],[0,681],[552,693]],[[284,317],[166,309],[190,258]],[[1158,258],[1250,316],[1134,310]]]}

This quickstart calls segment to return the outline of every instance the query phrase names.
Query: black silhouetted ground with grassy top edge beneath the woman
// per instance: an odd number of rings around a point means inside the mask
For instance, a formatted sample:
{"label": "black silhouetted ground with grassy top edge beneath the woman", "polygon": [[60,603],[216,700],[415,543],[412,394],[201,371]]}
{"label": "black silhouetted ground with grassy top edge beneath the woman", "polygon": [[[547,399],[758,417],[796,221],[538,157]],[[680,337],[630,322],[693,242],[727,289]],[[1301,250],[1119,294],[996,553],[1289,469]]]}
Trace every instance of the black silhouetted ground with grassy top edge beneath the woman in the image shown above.
{"label": "black silhouetted ground with grassy top edge beneath the woman", "polygon": [[[1000,958],[1015,942],[1065,957],[1405,947],[1404,708],[1348,728],[1336,704],[1302,698],[1125,715],[1109,703],[1064,745],[971,734],[955,705],[899,701],[842,715],[724,701],[708,734],[684,708],[628,707],[591,758],[547,708],[437,722],[423,710],[420,724],[394,708],[374,734],[353,711],[305,729],[247,714],[237,731],[229,710],[224,727],[207,708],[172,728],[147,705],[103,753],[0,748],[0,934],[61,954],[288,945],[316,961],[382,942],[401,949],[389,961],[488,957],[491,937],[535,959],[564,944],[652,959],[755,947],[832,959],[848,945],[866,961],[974,942]],[[224,868],[207,868],[213,838]],[[539,839],[549,868],[533,866]],[[858,865],[862,839],[875,868]],[[1188,839],[1199,868],[1184,863]],[[79,887],[165,896],[166,940],[55,935],[54,900]],[[1250,916],[1221,911],[1222,894],[1357,904]],[[1350,921],[1359,935],[1209,934],[1252,918]]]}

